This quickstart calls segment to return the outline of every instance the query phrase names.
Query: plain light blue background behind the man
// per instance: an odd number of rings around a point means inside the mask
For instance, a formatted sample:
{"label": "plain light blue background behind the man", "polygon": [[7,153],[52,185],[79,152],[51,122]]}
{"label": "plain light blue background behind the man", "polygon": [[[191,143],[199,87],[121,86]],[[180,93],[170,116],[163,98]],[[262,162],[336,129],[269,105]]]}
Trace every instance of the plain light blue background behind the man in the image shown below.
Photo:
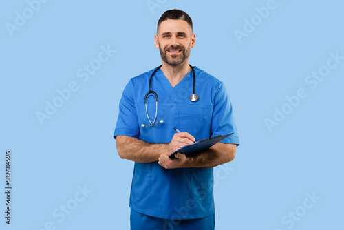
{"label": "plain light blue background behind the man", "polygon": [[[225,83],[241,141],[235,160],[215,168],[216,229],[343,229],[344,60],[316,88],[305,83],[330,52],[344,56],[343,2],[277,0],[239,43],[234,31],[268,1],[152,1],[153,10],[146,0],[47,1],[12,36],[6,23],[16,12],[30,16],[28,3],[1,2],[1,229],[129,229],[133,163],[119,158],[112,137],[118,103],[131,77],[160,65],[153,36],[173,8],[193,19],[190,63]],[[102,45],[116,53],[83,82],[76,72]],[[78,90],[41,125],[36,112],[73,81]],[[299,88],[308,96],[269,130],[264,120]],[[75,207],[78,186],[92,192]],[[306,193],[321,197],[311,209]],[[52,214],[60,205],[73,207],[62,222]]]}

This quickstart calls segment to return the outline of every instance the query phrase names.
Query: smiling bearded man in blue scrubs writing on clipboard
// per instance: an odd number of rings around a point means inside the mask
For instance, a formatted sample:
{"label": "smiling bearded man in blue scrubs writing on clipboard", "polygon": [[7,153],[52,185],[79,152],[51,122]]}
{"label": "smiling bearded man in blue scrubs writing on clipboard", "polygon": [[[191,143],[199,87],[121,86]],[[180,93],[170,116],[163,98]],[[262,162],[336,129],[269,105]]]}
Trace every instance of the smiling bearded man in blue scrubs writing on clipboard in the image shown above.
{"label": "smiling bearded man in blue scrubs writing on clipboard", "polygon": [[[189,15],[164,12],[155,35],[162,66],[131,79],[122,94],[114,138],[120,158],[135,162],[132,230],[214,229],[213,167],[233,160],[239,138],[223,83],[189,65],[193,47]],[[200,154],[169,158],[195,140],[230,133]]]}

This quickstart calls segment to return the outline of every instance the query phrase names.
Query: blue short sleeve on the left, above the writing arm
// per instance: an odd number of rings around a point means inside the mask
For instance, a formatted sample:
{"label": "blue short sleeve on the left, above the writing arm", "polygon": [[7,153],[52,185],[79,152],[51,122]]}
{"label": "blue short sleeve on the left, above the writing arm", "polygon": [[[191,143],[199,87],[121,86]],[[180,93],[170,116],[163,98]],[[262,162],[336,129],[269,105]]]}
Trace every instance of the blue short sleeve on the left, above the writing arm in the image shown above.
{"label": "blue short sleeve on the left, above the writing arm", "polygon": [[114,132],[115,139],[116,136],[131,136],[134,138],[140,136],[133,92],[133,82],[131,80],[125,86],[122,98],[120,98],[120,109]]}

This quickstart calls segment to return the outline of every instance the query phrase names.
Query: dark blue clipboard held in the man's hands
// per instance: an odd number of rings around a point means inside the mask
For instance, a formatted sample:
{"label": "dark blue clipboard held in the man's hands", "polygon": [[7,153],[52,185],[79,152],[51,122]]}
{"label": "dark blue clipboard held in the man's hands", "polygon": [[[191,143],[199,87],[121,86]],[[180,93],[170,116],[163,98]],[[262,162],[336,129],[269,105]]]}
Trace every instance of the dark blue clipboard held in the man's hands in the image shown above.
{"label": "dark blue clipboard held in the man's hands", "polygon": [[[232,133],[232,134],[234,134],[234,133]],[[181,149],[178,149],[173,154],[171,154],[169,156],[169,158],[171,158],[171,159],[175,158],[174,155],[178,152],[181,154],[185,154],[186,156],[191,156],[193,154],[197,154],[199,151],[202,151],[204,149],[208,149],[208,148],[212,147],[213,145],[215,145],[219,141],[224,140],[224,138],[227,138],[228,136],[230,136],[232,134],[226,134],[224,136],[214,136],[213,138],[207,138],[205,140],[196,141],[195,144],[186,145],[186,146],[182,147]]]}

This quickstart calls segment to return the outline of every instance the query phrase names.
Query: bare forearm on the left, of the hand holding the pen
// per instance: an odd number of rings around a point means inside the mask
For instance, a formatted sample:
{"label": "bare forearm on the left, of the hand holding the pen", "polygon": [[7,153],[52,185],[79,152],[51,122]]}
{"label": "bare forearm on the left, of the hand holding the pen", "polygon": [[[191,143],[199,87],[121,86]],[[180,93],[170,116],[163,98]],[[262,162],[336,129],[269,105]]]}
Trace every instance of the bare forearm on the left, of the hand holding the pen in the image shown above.
{"label": "bare forearm on the left, of the hand holding the pen", "polygon": [[167,144],[150,144],[130,136],[117,136],[116,145],[120,158],[137,163],[157,161],[161,154],[168,151]]}

